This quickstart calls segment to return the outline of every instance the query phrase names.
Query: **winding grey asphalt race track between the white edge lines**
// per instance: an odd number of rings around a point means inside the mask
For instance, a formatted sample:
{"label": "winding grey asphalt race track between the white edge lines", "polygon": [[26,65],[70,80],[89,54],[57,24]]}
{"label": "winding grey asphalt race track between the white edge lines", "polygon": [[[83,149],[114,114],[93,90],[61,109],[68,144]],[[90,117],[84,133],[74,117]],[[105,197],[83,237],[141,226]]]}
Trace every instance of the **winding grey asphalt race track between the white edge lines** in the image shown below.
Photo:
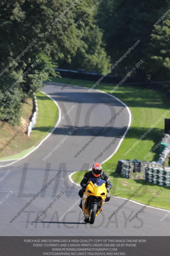
{"label": "winding grey asphalt race track between the white edge lines", "polygon": [[[128,202],[110,220],[107,218],[124,202],[122,198],[111,197],[104,204],[104,211],[97,216],[93,225],[82,223],[83,212],[78,204],[59,221],[59,218],[79,199],[79,186],[71,183],[69,175],[72,172],[91,168],[94,158],[103,151],[109,143],[117,138],[98,160],[106,160],[117,148],[121,136],[119,132],[129,124],[129,112],[124,108],[114,122],[109,124],[100,135],[94,139],[77,157],[77,152],[84,147],[90,138],[104,126],[115,113],[123,107],[122,103],[107,94],[83,87],[68,86],[61,90],[62,84],[48,83],[43,90],[58,102],[61,116],[73,105],[76,107],[57,126],[53,134],[45,140],[37,150],[26,158],[0,168],[0,177],[5,172],[11,172],[0,182],[0,235],[1,236],[170,236],[169,220],[160,219],[167,213],[147,207],[138,218],[129,222],[142,205]],[[48,124],[47,124],[48,126]],[[75,127],[75,128],[73,128]],[[70,131],[73,131],[71,133]],[[74,131],[75,130],[75,131]],[[69,135],[70,132],[70,135]],[[66,135],[67,138],[66,138]],[[66,138],[65,140],[63,138]],[[45,161],[42,160],[56,145],[64,140]],[[12,162],[12,161],[11,161]],[[0,162],[6,165],[10,162]],[[31,198],[61,170],[61,174],[39,195],[24,212],[12,223]],[[107,171],[107,170],[104,170]],[[112,181],[112,178],[111,178]],[[5,200],[3,198],[12,191]],[[63,193],[62,193],[63,191]],[[59,199],[55,196],[63,194]],[[119,195],[121,197],[121,195]],[[123,195],[122,195],[123,197]],[[51,209],[39,221],[31,222],[53,202]],[[130,218],[131,218],[130,217]]]}

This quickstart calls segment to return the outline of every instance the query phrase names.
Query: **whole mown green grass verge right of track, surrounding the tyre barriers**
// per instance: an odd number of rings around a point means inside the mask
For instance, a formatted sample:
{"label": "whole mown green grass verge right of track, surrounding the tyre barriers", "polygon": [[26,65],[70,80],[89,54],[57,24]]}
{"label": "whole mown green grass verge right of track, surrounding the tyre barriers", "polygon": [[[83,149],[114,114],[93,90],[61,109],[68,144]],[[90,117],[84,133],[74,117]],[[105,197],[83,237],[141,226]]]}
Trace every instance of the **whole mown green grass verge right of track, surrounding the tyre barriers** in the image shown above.
{"label": "whole mown green grass verge right of track, surrounding the tyre barriers", "polygon": [[[69,78],[54,78],[53,81],[58,83],[66,83]],[[72,84],[85,86],[90,88],[95,82],[84,81],[74,79]],[[114,88],[115,84],[100,83],[95,89],[99,89],[105,92],[109,92]],[[110,176],[110,180],[113,184],[111,195],[128,198],[136,188],[144,182],[142,178],[137,180],[125,179],[121,175],[115,173],[115,168],[119,159],[139,159],[144,160],[143,157],[159,142],[162,132],[164,131],[164,120],[156,125],[153,130],[147,134],[143,140],[141,140],[137,146],[131,150],[126,156],[125,152],[131,147],[144,132],[146,132],[152,124],[154,124],[159,117],[161,117],[165,111],[170,108],[170,104],[165,95],[159,91],[145,89],[139,92],[142,86],[136,85],[120,85],[120,87],[114,92],[115,97],[122,100],[130,108],[132,114],[132,123],[129,131],[126,134],[120,148],[116,154],[103,164],[103,171],[107,171]],[[170,114],[166,115],[166,118],[170,118]],[[94,156],[99,152],[94,152]],[[92,156],[93,158],[93,156]],[[147,161],[157,160],[159,158],[159,149],[155,150],[151,156],[146,158]],[[80,183],[83,179],[85,172],[77,172],[73,174],[72,178],[75,182]],[[142,173],[137,173],[142,175]],[[143,192],[138,192],[133,197],[134,201],[146,204],[147,201],[154,196],[153,194],[163,189],[163,192],[156,197],[150,204],[154,207],[170,210],[169,206],[169,190],[170,187],[158,186],[148,183],[144,186]]]}

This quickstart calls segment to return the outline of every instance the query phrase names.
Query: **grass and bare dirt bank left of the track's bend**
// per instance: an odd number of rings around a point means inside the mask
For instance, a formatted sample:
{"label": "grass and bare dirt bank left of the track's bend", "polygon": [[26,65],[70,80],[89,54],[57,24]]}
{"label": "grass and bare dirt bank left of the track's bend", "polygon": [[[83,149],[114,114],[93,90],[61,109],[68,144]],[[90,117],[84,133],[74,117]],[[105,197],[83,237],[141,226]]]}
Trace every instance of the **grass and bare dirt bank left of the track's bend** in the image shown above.
{"label": "grass and bare dirt bank left of the track's bend", "polygon": [[[58,108],[55,103],[43,93],[37,93],[37,103],[38,103],[38,116],[37,123],[35,124],[34,129],[32,130],[30,136],[28,137],[25,132],[21,132],[15,140],[12,141],[11,145],[6,147],[1,153],[0,160],[15,159],[25,156],[27,152],[30,152],[30,148],[35,148],[42,139],[41,136],[44,136],[45,133],[48,135],[48,130],[55,125],[58,119]],[[28,111],[30,110],[30,112]],[[26,120],[28,124],[28,115],[31,115],[32,106],[27,104],[22,109],[22,117]],[[20,124],[22,126],[22,124]],[[4,141],[8,141],[13,134],[18,130],[18,126],[6,124],[3,129],[1,129],[1,145],[4,145]],[[40,140],[40,141],[39,141]],[[34,144],[38,142],[36,146]]]}

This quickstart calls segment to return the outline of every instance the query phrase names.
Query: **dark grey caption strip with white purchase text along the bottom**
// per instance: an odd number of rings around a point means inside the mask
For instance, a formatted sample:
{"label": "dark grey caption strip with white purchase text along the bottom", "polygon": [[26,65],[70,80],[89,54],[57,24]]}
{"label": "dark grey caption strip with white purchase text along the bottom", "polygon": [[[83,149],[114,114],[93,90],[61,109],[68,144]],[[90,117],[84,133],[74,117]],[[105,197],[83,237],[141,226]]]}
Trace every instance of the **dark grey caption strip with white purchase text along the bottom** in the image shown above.
{"label": "dark grey caption strip with white purchase text along the bottom", "polygon": [[1,236],[2,256],[167,256],[169,236]]}

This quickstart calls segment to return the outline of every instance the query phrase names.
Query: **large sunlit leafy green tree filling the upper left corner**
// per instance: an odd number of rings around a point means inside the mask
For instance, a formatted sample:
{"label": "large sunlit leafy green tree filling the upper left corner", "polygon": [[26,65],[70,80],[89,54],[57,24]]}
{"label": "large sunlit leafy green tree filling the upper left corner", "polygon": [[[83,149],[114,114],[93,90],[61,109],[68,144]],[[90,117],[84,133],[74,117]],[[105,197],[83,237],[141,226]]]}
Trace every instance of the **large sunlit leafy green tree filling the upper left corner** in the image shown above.
{"label": "large sunlit leafy green tree filling the upper left corner", "polygon": [[[13,104],[11,108],[15,108],[16,95],[19,104],[19,100],[41,90],[42,82],[54,73],[57,62],[68,58],[83,42],[87,36],[86,27],[88,31],[92,29],[96,32],[99,39],[95,40],[95,47],[93,36],[93,51],[88,44],[84,55],[79,56],[84,59],[79,59],[78,65],[94,54],[95,68],[101,72],[107,68],[108,60],[101,41],[102,34],[93,25],[93,12],[88,19],[83,20],[80,27],[72,26],[82,17],[84,11],[89,10],[91,4],[90,0],[75,0],[72,5],[69,0],[1,1],[0,105],[4,105],[3,109],[9,107],[8,100],[6,106],[2,102],[4,93],[8,93]],[[101,58],[103,63],[100,63]],[[1,115],[1,118],[7,117],[7,112]],[[13,117],[13,123],[17,120]]]}

